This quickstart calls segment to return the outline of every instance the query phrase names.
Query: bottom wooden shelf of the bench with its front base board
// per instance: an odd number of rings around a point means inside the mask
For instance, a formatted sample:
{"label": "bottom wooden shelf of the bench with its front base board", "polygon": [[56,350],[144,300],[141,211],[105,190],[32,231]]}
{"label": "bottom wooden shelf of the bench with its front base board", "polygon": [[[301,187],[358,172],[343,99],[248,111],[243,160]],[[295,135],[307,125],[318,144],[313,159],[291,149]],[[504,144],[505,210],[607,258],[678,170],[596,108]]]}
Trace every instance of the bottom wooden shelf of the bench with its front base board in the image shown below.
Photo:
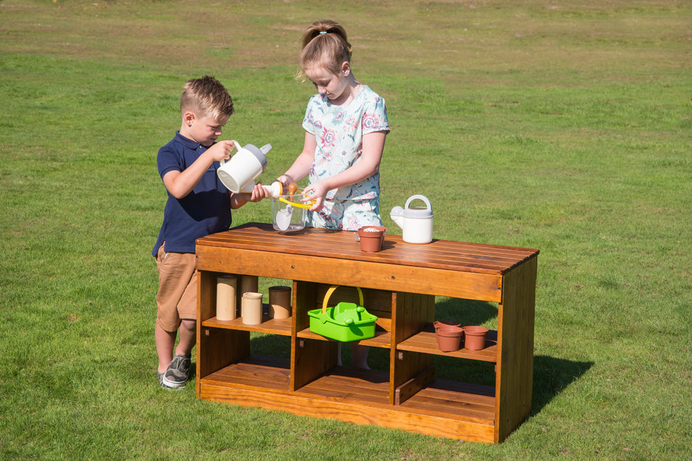
{"label": "bottom wooden shelf of the bench with its front base board", "polygon": [[401,405],[389,404],[388,373],[336,367],[290,391],[288,360],[251,356],[202,377],[201,399],[295,415],[377,424],[476,442],[495,441],[495,388],[435,379]]}

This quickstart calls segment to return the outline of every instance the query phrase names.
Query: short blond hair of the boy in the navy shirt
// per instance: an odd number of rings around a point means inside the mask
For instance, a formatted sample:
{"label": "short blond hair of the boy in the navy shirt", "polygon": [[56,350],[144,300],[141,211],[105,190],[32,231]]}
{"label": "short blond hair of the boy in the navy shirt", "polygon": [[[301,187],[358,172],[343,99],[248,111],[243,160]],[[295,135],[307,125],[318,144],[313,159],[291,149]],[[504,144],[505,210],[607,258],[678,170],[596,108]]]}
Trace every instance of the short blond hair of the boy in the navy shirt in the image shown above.
{"label": "short blond hair of the boy in the navy shirt", "polygon": [[183,86],[180,113],[192,112],[198,117],[228,120],[233,115],[233,100],[219,80],[209,75],[191,79]]}

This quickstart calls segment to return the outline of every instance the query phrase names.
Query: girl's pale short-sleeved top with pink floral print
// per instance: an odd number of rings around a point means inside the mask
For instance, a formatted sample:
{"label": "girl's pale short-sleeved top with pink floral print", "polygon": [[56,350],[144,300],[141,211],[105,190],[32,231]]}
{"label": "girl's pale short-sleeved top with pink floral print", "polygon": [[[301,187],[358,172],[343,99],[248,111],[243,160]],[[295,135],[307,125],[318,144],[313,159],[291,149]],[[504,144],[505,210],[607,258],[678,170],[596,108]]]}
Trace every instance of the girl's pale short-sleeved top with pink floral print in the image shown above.
{"label": "girl's pale short-sleeved top with pink floral print", "polygon": [[[358,162],[363,152],[363,135],[390,131],[385,100],[370,87],[363,85],[354,100],[344,106],[334,106],[325,95],[310,98],[302,122],[303,128],[317,141],[315,160],[309,182],[335,176]],[[379,199],[380,173],[349,187],[331,190],[327,200]]]}

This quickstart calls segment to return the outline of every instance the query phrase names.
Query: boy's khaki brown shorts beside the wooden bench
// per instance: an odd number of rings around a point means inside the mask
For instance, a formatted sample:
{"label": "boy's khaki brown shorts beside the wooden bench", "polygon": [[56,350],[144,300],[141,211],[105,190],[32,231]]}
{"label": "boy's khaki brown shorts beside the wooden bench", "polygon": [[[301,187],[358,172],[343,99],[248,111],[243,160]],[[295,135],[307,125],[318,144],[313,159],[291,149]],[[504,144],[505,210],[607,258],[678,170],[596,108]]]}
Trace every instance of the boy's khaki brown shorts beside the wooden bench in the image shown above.
{"label": "boy's khaki brown shorts beside the wooden bench", "polygon": [[197,319],[197,270],[194,253],[156,254],[158,294],[156,324],[168,332],[178,330],[181,320]]}

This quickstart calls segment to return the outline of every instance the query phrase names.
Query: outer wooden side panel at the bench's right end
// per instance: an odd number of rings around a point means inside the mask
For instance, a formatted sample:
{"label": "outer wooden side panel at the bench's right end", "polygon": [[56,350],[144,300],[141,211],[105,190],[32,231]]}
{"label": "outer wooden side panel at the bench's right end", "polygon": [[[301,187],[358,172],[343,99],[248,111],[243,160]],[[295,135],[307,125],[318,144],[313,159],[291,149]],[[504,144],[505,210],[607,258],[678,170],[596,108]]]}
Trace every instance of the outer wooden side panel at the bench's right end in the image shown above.
{"label": "outer wooden side panel at the bench's right end", "polygon": [[534,374],[536,257],[504,275],[498,317],[498,372],[495,379],[495,442],[502,442],[531,412]]}

